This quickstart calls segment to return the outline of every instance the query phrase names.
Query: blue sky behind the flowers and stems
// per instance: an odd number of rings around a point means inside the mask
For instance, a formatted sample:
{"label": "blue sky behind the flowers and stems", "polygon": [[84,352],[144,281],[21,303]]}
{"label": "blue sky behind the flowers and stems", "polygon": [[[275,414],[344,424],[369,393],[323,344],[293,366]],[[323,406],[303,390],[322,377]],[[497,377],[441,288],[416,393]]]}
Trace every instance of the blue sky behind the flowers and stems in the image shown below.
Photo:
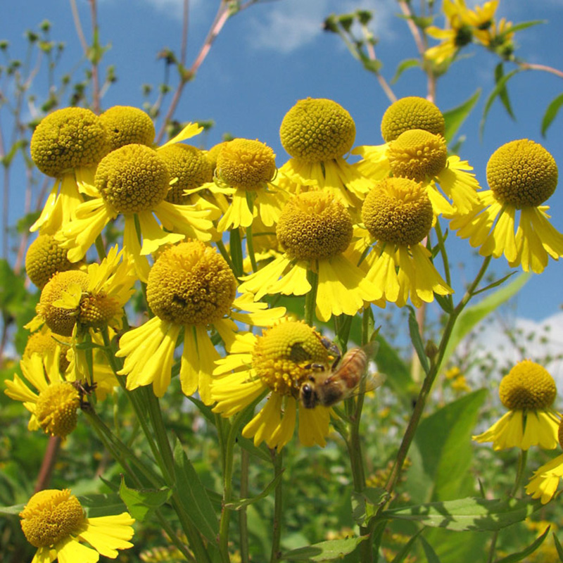
{"label": "blue sky behind the flowers and stems", "polygon": [[[89,29],[88,3],[78,1],[82,24]],[[217,8],[216,0],[191,1],[188,63],[194,60]],[[3,0],[0,38],[11,42],[11,54],[23,58],[23,31],[37,29],[44,19],[53,24],[51,36],[67,44],[60,68],[75,68],[80,44],[66,0]],[[394,0],[274,0],[252,6],[227,22],[217,38],[196,80],[188,84],[176,118],[182,121],[215,121],[204,139],[207,147],[221,140],[224,132],[236,137],[260,139],[274,148],[277,163],[287,156],[279,144],[279,124],[291,106],[307,96],[334,99],[353,116],[357,126],[356,144],[380,144],[379,123],[388,101],[376,80],[356,63],[334,34],[322,32],[322,20],[329,13],[345,13],[356,8],[375,12],[374,33],[379,37],[377,54],[384,62],[384,75],[393,76],[396,64],[415,56],[415,46],[403,20],[396,18]],[[158,84],[163,64],[156,53],[164,47],[179,51],[182,2],[180,0],[101,0],[99,25],[101,43],[111,48],[102,68],[113,64],[118,82],[103,98],[103,108],[116,104],[141,106],[141,85]],[[563,24],[561,0],[501,0],[499,16],[519,22],[549,20],[520,32],[518,53],[529,62],[563,68],[560,33]],[[438,25],[441,25],[438,20]],[[88,31],[87,31],[88,33]],[[521,73],[510,83],[517,121],[512,121],[499,103],[491,110],[483,140],[479,139],[479,118],[484,99],[493,86],[497,61],[488,53],[469,49],[472,56],[454,66],[448,77],[438,82],[436,102],[448,110],[474,94],[483,96],[472,118],[462,127],[467,137],[460,156],[469,160],[486,186],[485,167],[491,153],[512,139],[529,138],[541,142],[563,167],[563,116],[540,137],[539,123],[548,103],[563,91],[560,78],[540,72]],[[81,77],[84,66],[75,77]],[[1,84],[1,82],[0,82]],[[37,82],[37,87],[41,81]],[[394,85],[398,96],[425,96],[425,80],[417,70],[407,70]],[[5,125],[5,124],[4,124]],[[194,139],[198,142],[198,139]],[[16,184],[13,179],[13,184]],[[548,204],[552,222],[563,231],[563,189],[559,187]],[[10,218],[22,214],[23,201],[12,196]],[[472,257],[464,241],[453,244],[453,263],[464,262],[460,281],[473,277],[479,260]],[[498,272],[505,272],[501,258]],[[561,298],[562,262],[550,262],[541,276],[534,276],[517,298],[521,317],[540,320],[557,311]]]}

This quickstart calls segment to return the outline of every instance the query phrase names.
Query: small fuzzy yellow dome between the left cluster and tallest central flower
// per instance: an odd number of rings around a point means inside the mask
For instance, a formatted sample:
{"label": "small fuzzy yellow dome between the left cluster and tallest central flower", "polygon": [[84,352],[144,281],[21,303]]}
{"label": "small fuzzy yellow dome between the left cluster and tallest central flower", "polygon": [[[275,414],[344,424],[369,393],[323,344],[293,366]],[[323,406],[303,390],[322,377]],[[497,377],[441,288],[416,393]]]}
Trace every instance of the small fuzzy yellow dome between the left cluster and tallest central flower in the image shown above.
{"label": "small fuzzy yellow dome between the left cluster and tallest central flower", "polygon": [[233,139],[217,155],[215,175],[234,188],[265,187],[276,174],[274,151],[260,141]]}

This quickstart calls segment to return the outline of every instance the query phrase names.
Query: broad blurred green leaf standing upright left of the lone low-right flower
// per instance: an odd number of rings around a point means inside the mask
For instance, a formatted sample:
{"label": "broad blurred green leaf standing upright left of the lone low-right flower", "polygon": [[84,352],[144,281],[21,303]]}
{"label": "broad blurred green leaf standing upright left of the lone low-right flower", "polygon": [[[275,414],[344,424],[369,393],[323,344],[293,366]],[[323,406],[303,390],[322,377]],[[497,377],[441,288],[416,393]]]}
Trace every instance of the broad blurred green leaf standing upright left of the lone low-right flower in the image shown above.
{"label": "broad blurred green leaf standing upright left of the lone low-right flower", "polygon": [[419,424],[415,434],[419,458],[413,459],[411,473],[424,475],[426,486],[419,487],[417,494],[412,491],[415,502],[450,500],[472,493],[471,436],[486,395],[484,389],[468,393]]}

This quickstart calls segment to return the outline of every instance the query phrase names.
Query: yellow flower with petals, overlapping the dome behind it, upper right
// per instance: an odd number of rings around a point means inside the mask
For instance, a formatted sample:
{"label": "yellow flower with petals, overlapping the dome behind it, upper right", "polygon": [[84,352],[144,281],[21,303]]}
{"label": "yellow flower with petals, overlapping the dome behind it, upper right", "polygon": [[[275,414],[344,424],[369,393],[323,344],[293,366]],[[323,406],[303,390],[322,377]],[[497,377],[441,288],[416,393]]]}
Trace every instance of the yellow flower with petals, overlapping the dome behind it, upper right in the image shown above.
{"label": "yellow flower with petals, overlapping the dome behind it, upper right", "polygon": [[[435,215],[455,217],[480,205],[481,189],[467,160],[449,156],[445,139],[424,129],[407,129],[384,145],[359,146],[353,153],[362,156],[358,170],[373,180],[392,174],[422,182]],[[438,190],[439,184],[441,191]]]}

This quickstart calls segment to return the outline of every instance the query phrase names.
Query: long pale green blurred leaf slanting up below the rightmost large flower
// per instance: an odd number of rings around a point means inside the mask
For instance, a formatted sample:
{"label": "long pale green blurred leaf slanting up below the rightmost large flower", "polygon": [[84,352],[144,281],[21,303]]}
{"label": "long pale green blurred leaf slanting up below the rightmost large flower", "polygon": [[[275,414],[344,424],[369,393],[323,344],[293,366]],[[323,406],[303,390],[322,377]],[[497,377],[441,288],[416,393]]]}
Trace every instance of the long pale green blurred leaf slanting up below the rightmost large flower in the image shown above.
{"label": "long pale green blurred leaf slanting up below the rightmost large flower", "polygon": [[447,365],[448,358],[450,358],[450,355],[452,355],[460,341],[462,341],[462,339],[487,315],[490,315],[491,312],[500,307],[502,303],[505,303],[505,301],[515,296],[530,277],[531,273],[523,272],[507,286],[503,286],[498,289],[498,291],[495,291],[495,293],[491,293],[491,295],[479,301],[476,305],[465,308],[453,327],[448,346],[445,348],[442,365]]}

